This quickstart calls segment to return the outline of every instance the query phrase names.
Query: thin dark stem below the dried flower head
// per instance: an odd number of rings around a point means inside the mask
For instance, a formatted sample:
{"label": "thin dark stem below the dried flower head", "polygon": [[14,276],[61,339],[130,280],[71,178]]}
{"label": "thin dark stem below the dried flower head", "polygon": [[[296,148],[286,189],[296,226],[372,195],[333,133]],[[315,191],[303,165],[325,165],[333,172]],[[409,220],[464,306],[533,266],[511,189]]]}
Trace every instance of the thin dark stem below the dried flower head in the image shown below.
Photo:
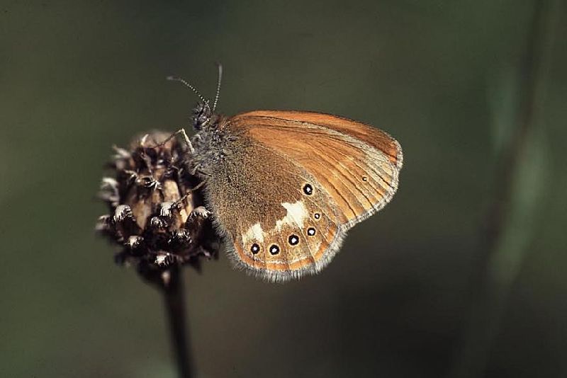
{"label": "thin dark stem below the dried flower head", "polygon": [[193,357],[189,343],[185,314],[183,275],[178,266],[169,270],[169,282],[164,286],[164,305],[169,320],[172,349],[180,378],[193,377]]}

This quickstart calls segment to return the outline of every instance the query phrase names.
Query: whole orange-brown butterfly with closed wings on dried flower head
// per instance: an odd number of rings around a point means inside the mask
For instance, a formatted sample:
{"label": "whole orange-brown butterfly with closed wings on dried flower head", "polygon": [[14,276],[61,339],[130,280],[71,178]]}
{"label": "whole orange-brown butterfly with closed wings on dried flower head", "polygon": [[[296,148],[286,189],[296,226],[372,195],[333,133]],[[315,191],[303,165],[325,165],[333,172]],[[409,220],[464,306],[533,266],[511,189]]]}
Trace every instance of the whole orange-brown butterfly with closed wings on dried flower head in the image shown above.
{"label": "whole orange-brown butterfly with closed wings on dried flower head", "polygon": [[200,99],[189,166],[225,250],[237,268],[281,282],[318,273],[347,231],[381,210],[398,189],[400,144],[337,115],[293,110],[215,114]]}

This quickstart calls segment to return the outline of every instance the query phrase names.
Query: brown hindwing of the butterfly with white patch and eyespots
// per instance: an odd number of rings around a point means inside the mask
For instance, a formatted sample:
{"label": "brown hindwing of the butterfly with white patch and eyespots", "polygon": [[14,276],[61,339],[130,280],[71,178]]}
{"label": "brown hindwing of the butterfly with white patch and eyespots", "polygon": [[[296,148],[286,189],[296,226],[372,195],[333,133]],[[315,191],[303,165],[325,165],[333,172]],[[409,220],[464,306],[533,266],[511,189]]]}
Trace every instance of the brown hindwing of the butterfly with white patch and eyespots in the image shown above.
{"label": "brown hindwing of the butterfly with white patch and eyespots", "polygon": [[268,280],[317,272],[342,240],[337,204],[301,165],[244,134],[237,140],[203,190],[229,256]]}

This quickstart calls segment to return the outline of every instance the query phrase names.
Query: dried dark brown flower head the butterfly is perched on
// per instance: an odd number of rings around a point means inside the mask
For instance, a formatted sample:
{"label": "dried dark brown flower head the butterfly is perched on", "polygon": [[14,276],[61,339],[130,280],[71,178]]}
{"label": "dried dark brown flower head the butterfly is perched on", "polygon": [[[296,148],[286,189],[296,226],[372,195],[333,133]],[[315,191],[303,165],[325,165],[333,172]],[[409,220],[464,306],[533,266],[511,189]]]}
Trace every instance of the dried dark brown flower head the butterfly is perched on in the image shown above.
{"label": "dried dark brown flower head the butterfly is perched on", "polygon": [[[130,149],[114,147],[99,197],[109,214],[96,231],[119,244],[119,264],[134,265],[150,282],[167,286],[170,269],[201,258],[217,258],[219,243],[202,206],[199,179],[189,172],[189,148],[166,132],[135,139]],[[166,142],[164,142],[166,141]]]}

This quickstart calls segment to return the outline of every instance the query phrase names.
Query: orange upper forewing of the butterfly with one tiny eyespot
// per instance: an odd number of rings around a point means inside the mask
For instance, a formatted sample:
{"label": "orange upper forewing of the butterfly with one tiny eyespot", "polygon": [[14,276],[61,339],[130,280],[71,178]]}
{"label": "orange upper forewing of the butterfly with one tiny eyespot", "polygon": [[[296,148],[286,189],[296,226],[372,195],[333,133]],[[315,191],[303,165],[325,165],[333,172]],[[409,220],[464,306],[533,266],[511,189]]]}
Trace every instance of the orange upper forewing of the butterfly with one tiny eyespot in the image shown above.
{"label": "orange upper forewing of the butterfly with one tiny eyespot", "polygon": [[400,145],[374,127],[334,115],[266,110],[232,122],[313,175],[337,203],[344,229],[380,210],[398,188]]}

